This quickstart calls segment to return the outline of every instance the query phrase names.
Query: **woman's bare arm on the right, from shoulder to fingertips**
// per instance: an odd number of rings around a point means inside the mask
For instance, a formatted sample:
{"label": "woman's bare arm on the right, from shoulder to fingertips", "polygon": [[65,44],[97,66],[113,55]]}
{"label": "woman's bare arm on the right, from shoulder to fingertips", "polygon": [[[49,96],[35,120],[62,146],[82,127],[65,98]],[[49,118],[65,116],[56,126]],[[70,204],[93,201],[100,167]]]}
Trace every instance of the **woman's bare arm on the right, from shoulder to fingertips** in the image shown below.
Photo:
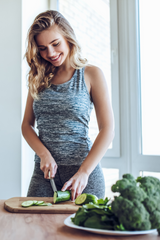
{"label": "woman's bare arm on the right, from shoulder to fingertips", "polygon": [[91,86],[90,94],[95,106],[99,133],[78,172],[62,188],[62,190],[72,188],[72,200],[86,187],[89,175],[102,159],[114,138],[114,116],[105,77],[98,67],[88,66],[86,68],[86,77]]}

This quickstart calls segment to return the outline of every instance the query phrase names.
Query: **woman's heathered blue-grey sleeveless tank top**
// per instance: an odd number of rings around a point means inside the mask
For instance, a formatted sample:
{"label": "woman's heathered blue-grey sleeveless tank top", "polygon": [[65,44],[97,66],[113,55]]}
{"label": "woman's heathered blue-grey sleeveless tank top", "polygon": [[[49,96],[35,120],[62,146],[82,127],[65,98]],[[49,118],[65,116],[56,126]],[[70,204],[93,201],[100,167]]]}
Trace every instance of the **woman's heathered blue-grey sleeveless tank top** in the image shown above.
{"label": "woman's heathered blue-grey sleeveless tank top", "polygon": [[[62,84],[51,84],[33,101],[38,137],[57,164],[80,165],[92,142],[88,136],[93,102],[84,80],[84,68],[76,69]],[[40,158],[35,154],[35,162]]]}

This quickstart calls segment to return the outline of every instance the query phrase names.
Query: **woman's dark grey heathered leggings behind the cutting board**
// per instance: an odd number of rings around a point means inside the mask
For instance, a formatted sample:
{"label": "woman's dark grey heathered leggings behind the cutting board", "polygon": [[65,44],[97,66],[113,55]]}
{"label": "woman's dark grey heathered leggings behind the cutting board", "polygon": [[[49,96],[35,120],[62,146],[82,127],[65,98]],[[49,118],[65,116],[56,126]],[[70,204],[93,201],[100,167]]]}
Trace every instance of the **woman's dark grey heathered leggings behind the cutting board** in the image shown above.
{"label": "woman's dark grey heathered leggings behind the cutting board", "polygon": [[[79,166],[60,165],[58,166],[54,178],[57,190],[61,190],[64,183],[67,182],[79,169]],[[98,198],[104,198],[105,182],[100,164],[90,174],[88,184],[83,193],[96,195]],[[35,162],[33,175],[29,185],[27,197],[53,197],[53,190],[50,180],[44,178],[44,173],[40,169],[40,163]]]}

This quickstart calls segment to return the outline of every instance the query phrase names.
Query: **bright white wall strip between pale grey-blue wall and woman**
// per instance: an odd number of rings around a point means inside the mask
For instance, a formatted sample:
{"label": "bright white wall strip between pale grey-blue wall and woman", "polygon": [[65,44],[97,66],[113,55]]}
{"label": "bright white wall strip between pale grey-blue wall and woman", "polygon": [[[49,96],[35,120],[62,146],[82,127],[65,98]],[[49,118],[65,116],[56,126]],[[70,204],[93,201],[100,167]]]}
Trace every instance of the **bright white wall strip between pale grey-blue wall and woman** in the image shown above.
{"label": "bright white wall strip between pale grey-blue wall and woman", "polygon": [[[48,0],[22,0],[22,59],[26,51],[26,38],[29,27],[34,18],[48,9]],[[22,60],[22,118],[28,93],[27,88],[28,64]],[[21,196],[27,195],[30,179],[34,168],[34,152],[22,137],[22,168],[21,168]]]}

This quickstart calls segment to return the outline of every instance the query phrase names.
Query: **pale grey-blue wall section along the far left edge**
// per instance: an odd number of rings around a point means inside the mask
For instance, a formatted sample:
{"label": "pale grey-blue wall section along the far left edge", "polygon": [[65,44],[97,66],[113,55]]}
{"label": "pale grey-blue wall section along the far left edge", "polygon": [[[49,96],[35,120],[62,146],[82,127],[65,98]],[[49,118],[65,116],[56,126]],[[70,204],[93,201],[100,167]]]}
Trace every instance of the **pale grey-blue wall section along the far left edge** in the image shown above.
{"label": "pale grey-blue wall section along the far left edge", "polygon": [[21,0],[0,1],[0,199],[21,193]]}

